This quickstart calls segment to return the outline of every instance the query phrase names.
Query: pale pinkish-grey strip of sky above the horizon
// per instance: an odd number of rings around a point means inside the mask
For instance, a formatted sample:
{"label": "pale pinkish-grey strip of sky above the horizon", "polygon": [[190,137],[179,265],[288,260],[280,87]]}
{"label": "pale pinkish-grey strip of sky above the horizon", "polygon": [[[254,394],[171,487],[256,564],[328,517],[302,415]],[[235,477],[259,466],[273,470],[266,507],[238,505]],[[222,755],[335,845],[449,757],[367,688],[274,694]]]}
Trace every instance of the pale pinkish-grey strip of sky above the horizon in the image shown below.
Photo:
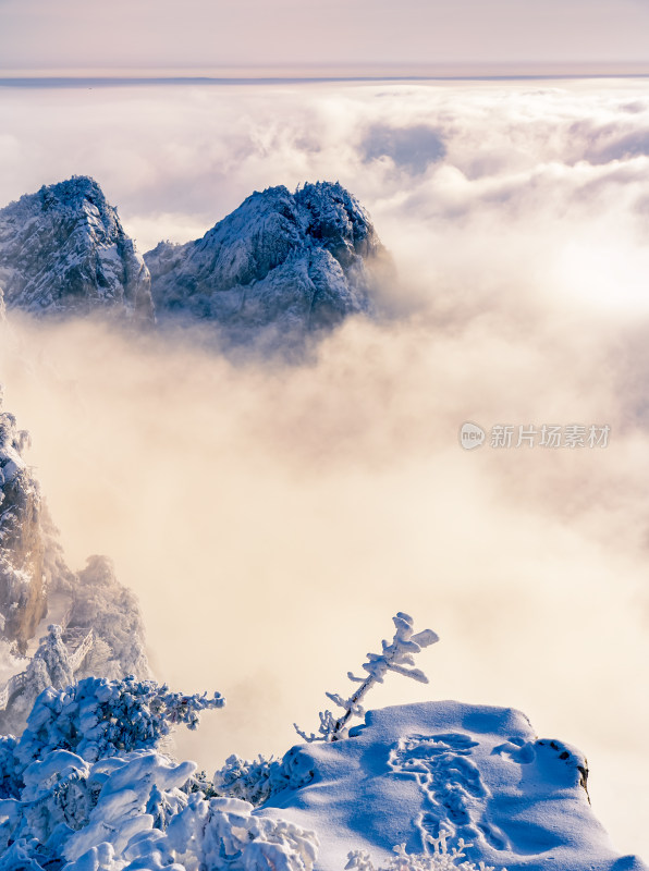
{"label": "pale pinkish-grey strip of sky above the horizon", "polygon": [[0,69],[647,68],[648,33],[647,0],[0,0]]}

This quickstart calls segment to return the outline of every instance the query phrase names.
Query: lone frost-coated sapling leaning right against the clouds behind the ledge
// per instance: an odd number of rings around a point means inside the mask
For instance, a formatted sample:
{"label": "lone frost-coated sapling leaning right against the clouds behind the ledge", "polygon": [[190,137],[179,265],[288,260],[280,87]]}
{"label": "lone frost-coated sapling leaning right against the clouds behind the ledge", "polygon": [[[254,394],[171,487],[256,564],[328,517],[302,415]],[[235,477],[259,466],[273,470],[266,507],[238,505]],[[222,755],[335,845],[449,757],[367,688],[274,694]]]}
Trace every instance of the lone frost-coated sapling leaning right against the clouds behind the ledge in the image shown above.
{"label": "lone frost-coated sapling leaning right against the clouds behind the ledge", "polygon": [[423,647],[434,645],[439,641],[438,635],[432,629],[424,629],[416,633],[413,628],[413,618],[408,614],[400,611],[392,617],[396,631],[391,643],[381,641],[382,653],[368,653],[367,662],[363,667],[368,673],[367,677],[356,677],[352,672],[347,672],[350,680],[360,684],[358,689],[344,699],[339,694],[327,692],[326,696],[335,704],[343,709],[343,713],[336,719],[331,711],[320,711],[319,734],[310,733],[307,735],[294,723],[297,734],[308,743],[311,741],[334,741],[346,736],[346,725],[352,716],[363,716],[365,709],[360,704],[362,699],[375,684],[382,684],[388,672],[396,672],[404,677],[412,677],[427,684],[428,678],[420,668],[416,668],[414,654],[419,653]]}

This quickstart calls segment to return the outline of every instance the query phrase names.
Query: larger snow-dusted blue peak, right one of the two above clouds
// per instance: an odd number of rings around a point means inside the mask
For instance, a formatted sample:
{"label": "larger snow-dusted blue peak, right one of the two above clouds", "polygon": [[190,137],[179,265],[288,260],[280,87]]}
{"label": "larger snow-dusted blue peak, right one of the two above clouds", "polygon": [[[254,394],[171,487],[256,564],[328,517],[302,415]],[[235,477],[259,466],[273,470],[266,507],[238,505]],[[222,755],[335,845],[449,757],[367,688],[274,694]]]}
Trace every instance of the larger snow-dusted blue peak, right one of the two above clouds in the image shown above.
{"label": "larger snow-dusted blue peak, right one of the two above clouds", "polygon": [[385,259],[363,206],[328,182],[255,193],[203,238],[145,254],[159,318],[213,321],[241,342],[265,329],[306,334],[370,311]]}

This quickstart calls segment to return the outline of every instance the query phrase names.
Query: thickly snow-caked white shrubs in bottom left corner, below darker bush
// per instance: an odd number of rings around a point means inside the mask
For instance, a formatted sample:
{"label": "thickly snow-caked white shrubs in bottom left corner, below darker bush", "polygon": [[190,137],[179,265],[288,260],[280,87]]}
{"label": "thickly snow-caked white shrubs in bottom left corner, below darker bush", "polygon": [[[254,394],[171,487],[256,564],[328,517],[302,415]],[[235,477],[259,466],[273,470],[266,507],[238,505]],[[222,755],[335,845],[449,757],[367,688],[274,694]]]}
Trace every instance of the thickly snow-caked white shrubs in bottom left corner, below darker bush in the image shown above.
{"label": "thickly snow-caked white shrubs in bottom left corner, below darker bush", "polygon": [[313,832],[246,801],[187,796],[194,768],[155,750],[91,765],[48,753],[22,800],[0,801],[0,871],[311,871]]}

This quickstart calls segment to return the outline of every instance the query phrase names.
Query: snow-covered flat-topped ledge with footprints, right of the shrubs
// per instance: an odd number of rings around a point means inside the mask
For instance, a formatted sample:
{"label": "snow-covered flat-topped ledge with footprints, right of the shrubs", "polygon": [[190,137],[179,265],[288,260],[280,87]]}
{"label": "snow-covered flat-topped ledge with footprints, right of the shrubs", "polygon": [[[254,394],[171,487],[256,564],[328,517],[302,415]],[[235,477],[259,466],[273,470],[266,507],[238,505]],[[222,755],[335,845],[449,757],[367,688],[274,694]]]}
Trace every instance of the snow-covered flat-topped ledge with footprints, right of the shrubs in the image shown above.
{"label": "snow-covered flat-topped ledge with footprints, right of the shrubs", "polygon": [[388,866],[396,845],[423,854],[440,835],[470,844],[468,860],[509,871],[647,871],[615,851],[595,818],[584,757],[537,739],[517,711],[385,708],[350,735],[293,748],[310,783],[258,811],[314,830],[319,871],[341,871],[350,850]]}

